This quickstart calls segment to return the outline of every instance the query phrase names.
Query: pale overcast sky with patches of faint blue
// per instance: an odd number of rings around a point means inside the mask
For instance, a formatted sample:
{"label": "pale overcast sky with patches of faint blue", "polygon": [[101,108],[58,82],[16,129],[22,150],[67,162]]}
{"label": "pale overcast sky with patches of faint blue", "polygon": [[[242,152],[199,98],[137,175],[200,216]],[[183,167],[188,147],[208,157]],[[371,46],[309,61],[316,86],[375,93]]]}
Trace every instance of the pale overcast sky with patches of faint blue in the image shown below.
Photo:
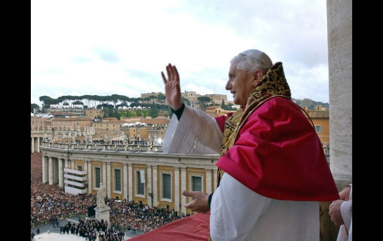
{"label": "pale overcast sky with patches of faint blue", "polygon": [[230,60],[259,49],[284,65],[293,98],[328,102],[325,0],[31,1],[31,103],[39,96],[164,90],[232,95]]}

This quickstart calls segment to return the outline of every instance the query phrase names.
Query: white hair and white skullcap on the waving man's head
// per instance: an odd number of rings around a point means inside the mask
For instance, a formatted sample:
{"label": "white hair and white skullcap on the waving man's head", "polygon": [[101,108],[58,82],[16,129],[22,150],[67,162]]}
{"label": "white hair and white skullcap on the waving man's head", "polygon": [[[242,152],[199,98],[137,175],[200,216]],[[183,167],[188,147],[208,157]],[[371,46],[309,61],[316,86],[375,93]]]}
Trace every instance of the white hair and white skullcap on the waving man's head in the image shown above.
{"label": "white hair and white skullcap on the waving man's head", "polygon": [[231,65],[234,63],[238,63],[238,70],[243,70],[250,73],[259,69],[262,70],[262,72],[265,74],[270,69],[270,67],[273,66],[273,62],[271,61],[270,57],[257,49],[249,49],[238,54],[230,61]]}

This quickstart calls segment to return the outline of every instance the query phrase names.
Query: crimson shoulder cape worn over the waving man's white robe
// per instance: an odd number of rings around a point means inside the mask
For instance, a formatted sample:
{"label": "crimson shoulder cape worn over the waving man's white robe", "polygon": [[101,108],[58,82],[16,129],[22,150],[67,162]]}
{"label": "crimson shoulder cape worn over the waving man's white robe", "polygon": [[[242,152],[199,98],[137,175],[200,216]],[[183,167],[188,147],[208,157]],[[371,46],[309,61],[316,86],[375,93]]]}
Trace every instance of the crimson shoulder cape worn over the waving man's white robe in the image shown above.
{"label": "crimson shoulder cape worn over the waving man's white robe", "polygon": [[287,98],[274,97],[259,106],[216,165],[273,199],[339,199],[318,135],[302,110]]}

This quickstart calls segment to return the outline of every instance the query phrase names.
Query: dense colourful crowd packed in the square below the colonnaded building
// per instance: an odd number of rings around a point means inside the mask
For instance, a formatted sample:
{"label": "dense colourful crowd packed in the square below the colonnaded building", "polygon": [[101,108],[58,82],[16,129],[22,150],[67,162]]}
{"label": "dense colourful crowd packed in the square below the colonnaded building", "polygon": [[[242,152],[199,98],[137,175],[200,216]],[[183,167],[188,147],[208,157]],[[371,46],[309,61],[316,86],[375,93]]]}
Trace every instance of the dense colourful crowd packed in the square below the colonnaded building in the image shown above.
{"label": "dense colourful crowd packed in the square below the colonnaded building", "polygon": [[[65,193],[57,184],[42,183],[41,160],[40,153],[31,154],[31,223],[46,221],[59,228],[58,221],[71,213],[86,216],[88,207],[96,205],[96,195],[72,195]],[[111,208],[110,226],[122,231],[148,232],[189,216],[167,208],[137,204],[134,201],[116,202],[108,198],[106,204]]]}

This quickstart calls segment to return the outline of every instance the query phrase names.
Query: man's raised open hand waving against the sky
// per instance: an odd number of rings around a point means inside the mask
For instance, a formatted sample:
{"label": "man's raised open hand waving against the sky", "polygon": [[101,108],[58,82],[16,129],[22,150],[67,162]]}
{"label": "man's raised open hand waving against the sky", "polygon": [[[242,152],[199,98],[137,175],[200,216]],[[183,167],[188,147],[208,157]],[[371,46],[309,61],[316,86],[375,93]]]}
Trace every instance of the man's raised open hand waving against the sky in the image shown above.
{"label": "man's raised open hand waving against the sky", "polygon": [[181,88],[180,88],[180,76],[176,66],[169,64],[166,67],[168,73],[168,80],[165,78],[164,72],[161,72],[162,79],[165,83],[166,100],[173,110],[178,110],[182,106],[181,100]]}

